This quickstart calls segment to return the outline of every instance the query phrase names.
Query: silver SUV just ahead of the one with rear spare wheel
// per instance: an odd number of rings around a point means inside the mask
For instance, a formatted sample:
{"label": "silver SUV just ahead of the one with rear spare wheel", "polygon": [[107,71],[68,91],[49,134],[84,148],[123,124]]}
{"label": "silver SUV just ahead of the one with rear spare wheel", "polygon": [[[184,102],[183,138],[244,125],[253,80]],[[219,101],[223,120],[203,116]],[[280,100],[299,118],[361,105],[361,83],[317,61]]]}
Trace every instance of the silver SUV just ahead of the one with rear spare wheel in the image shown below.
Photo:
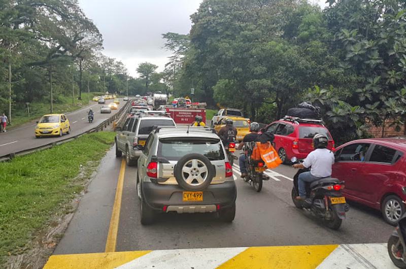
{"label": "silver SUV just ahead of the one with rear spare wheel", "polygon": [[123,127],[116,128],[116,156],[121,157],[124,153],[127,165],[136,164],[149,133],[157,125],[175,126],[176,124],[172,118],[165,116],[162,111],[159,114],[146,113],[128,117]]}

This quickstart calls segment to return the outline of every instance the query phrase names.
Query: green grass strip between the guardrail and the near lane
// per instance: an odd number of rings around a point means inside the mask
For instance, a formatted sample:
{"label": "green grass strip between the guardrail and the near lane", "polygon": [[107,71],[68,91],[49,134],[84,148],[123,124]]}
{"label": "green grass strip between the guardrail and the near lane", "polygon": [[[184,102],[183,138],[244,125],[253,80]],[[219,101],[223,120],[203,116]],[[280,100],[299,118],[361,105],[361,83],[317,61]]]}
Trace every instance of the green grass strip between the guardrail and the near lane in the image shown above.
{"label": "green grass strip between the guardrail and the near lane", "polygon": [[[8,255],[23,253],[49,227],[53,216],[83,190],[114,132],[84,135],[48,150],[0,163],[0,267]],[[80,165],[84,177],[78,177]]]}

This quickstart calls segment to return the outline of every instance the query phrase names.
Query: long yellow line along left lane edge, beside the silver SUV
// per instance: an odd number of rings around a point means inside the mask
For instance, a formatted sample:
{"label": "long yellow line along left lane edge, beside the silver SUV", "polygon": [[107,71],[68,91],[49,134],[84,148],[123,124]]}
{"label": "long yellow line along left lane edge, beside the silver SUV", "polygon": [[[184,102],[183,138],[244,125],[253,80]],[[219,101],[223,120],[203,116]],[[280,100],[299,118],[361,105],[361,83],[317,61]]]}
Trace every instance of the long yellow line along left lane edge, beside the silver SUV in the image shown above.
{"label": "long yellow line along left lane edge, beside the silver SUV", "polygon": [[109,234],[107,236],[105,252],[116,251],[117,231],[118,224],[120,222],[121,196],[123,194],[124,174],[125,174],[125,159],[123,158],[121,161],[120,174],[118,175],[116,197],[114,198],[114,205],[113,211],[111,213]]}

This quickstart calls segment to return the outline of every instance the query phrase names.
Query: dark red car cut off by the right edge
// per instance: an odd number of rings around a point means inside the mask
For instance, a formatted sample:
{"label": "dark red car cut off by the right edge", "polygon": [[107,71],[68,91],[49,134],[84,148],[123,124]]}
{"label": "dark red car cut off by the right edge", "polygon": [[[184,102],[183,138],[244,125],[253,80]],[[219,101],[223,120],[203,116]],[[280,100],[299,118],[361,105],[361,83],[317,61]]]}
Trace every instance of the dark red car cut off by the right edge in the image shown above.
{"label": "dark red car cut off by the right edge", "polygon": [[332,177],[345,181],[344,195],[381,210],[386,222],[395,225],[405,212],[406,139],[361,139],[335,151]]}

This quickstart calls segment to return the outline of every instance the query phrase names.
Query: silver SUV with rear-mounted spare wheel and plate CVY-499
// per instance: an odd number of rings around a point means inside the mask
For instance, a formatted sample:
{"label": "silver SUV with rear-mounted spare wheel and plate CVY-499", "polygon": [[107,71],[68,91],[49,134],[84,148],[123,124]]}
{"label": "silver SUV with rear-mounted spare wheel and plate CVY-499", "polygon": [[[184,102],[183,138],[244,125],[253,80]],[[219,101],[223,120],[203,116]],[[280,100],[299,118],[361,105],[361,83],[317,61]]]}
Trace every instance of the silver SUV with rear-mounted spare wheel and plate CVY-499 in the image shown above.
{"label": "silver SUV with rear-mounted spare wheel and plate CVY-499", "polygon": [[218,212],[234,220],[232,167],[216,133],[203,127],[157,127],[138,159],[141,223],[156,214]]}

